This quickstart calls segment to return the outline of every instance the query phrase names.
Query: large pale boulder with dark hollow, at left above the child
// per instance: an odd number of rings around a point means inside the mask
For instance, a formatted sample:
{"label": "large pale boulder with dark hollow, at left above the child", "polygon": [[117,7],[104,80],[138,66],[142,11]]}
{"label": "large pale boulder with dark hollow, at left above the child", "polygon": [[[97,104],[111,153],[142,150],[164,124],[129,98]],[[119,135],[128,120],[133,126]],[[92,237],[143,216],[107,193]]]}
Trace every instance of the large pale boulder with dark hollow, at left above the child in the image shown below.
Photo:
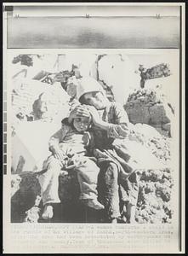
{"label": "large pale boulder with dark hollow, at left above the child", "polygon": [[67,112],[69,99],[58,83],[49,85],[33,79],[14,81],[12,108],[14,116],[20,120],[33,121],[46,116],[54,119],[59,112]]}

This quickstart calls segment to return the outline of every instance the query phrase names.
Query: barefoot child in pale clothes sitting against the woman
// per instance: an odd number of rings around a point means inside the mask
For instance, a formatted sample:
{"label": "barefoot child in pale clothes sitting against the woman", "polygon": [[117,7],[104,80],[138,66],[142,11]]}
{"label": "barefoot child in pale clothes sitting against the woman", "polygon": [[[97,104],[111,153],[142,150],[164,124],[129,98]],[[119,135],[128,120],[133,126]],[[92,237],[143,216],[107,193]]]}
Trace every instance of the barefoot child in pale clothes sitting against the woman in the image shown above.
{"label": "barefoot child in pale clothes sitting against the woman", "polygon": [[72,119],[71,124],[65,120],[60,131],[49,140],[52,155],[45,162],[47,172],[39,176],[43,198],[43,218],[53,218],[53,203],[60,202],[58,195],[59,174],[61,170],[74,168],[80,184],[80,199],[88,207],[103,209],[97,201],[97,177],[100,169],[86,154],[92,144],[92,136],[88,132],[90,117]]}

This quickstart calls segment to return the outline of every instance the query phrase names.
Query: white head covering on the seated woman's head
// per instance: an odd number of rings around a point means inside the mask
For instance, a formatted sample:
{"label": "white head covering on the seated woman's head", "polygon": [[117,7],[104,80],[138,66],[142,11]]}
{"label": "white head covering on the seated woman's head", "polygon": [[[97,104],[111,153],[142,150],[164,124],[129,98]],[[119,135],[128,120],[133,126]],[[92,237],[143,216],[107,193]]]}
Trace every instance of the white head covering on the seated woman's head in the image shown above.
{"label": "white head covering on the seated woman's head", "polygon": [[105,91],[95,79],[91,77],[84,77],[81,79],[77,79],[77,99],[79,100],[81,96],[85,93],[92,91],[100,91],[105,96]]}

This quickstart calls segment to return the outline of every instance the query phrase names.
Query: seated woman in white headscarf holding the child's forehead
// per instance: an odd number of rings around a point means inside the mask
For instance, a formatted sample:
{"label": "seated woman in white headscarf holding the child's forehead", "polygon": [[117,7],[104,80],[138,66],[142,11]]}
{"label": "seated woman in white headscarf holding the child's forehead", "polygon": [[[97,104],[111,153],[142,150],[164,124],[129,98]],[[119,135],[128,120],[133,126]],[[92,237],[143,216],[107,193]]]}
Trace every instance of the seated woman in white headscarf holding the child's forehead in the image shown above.
{"label": "seated woman in white headscarf holding the child's forehead", "polygon": [[[138,197],[138,175],[130,164],[125,148],[116,145],[115,139],[128,135],[128,116],[117,102],[109,102],[101,85],[92,78],[78,79],[77,99],[89,105],[74,108],[68,118],[92,115],[95,140],[94,156],[100,166],[99,196],[111,223],[117,223],[122,212],[127,212],[127,222],[134,222]],[[132,162],[133,163],[133,162]],[[82,178],[82,177],[81,177]],[[121,205],[122,203],[122,205]]]}

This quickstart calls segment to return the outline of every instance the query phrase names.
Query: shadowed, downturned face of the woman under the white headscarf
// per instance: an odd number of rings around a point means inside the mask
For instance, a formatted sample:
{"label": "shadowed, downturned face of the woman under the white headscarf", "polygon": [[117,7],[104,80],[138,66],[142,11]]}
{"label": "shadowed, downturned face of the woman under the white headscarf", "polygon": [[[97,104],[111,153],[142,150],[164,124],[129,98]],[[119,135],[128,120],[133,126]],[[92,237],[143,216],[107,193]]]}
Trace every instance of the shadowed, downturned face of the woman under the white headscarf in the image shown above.
{"label": "shadowed, downturned face of the woman under the white headscarf", "polygon": [[97,110],[104,109],[107,104],[106,97],[100,91],[92,91],[83,95],[86,105],[94,106]]}

